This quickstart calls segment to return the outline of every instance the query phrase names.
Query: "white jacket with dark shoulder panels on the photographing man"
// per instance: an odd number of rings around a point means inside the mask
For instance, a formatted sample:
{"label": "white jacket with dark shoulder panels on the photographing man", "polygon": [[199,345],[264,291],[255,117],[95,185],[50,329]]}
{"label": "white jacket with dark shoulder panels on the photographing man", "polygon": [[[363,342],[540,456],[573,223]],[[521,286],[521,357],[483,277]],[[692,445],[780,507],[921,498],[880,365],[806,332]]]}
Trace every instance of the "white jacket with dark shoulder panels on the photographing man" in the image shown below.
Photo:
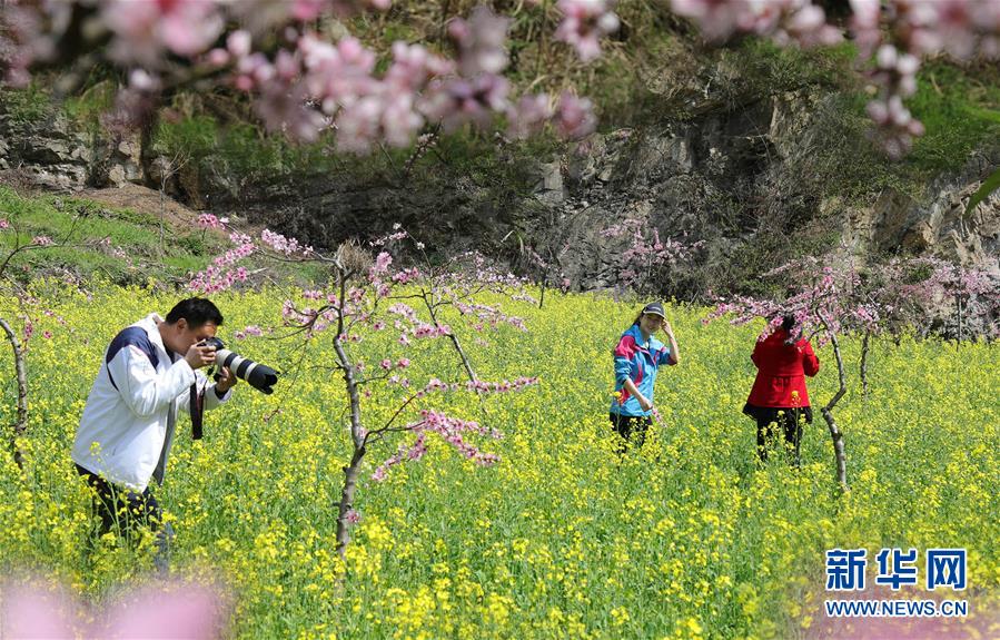
{"label": "white jacket with dark shoulder panels on the photographing man", "polygon": [[157,314],[121,331],[105,351],[100,371],[77,429],[71,457],[83,469],[119,485],[145,491],[149,479],[164,482],[174,444],[177,411],[190,412],[190,386],[205,390],[205,408],[220,400],[215,384],[164,347]]}

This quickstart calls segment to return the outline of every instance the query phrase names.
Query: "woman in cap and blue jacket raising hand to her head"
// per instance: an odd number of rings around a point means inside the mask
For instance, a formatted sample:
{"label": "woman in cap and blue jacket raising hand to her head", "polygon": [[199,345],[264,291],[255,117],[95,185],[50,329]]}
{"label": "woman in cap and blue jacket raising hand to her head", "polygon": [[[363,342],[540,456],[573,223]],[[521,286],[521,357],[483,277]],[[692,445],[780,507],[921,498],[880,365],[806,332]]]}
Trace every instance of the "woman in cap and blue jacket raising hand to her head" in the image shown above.
{"label": "woman in cap and blue jacket raising hand to her head", "polygon": [[[670,345],[654,334],[663,331]],[[632,326],[622,334],[614,348],[615,397],[611,404],[611,424],[624,439],[620,452],[634,441],[642,446],[646,430],[653,423],[653,384],[656,372],[664,364],[677,364],[677,341],[663,305],[651,303],[643,307]]]}

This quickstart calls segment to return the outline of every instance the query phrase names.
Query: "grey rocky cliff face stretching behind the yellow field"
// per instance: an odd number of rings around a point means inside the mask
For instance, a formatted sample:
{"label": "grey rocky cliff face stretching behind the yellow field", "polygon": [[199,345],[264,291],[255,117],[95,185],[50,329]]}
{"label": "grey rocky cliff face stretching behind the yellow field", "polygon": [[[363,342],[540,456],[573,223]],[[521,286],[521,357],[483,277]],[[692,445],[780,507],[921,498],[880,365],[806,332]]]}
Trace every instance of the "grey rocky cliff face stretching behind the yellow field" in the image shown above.
{"label": "grey rocky cliff face stretching behind the yellow field", "polygon": [[0,179],[59,190],[145,183],[317,246],[402,221],[442,256],[476,247],[523,263],[531,247],[578,289],[620,282],[628,240],[602,232],[624,218],[661,238],[697,243],[693,259],[666,267],[662,284],[679,297],[741,286],[790,252],[838,246],[937,255],[1000,274],[1000,197],[962,216],[968,196],[1000,166],[1000,149],[939,176],[923,194],[848,198],[823,188],[839,168],[815,137],[822,98],[790,92],[727,109],[687,99],[695,116],[684,120],[594,135],[542,158],[498,144],[485,175],[443,158],[425,159],[408,177],[354,170],[248,179],[207,166],[171,174],[166,157],[143,168],[136,140],[73,130],[59,115],[24,122],[0,111]]}

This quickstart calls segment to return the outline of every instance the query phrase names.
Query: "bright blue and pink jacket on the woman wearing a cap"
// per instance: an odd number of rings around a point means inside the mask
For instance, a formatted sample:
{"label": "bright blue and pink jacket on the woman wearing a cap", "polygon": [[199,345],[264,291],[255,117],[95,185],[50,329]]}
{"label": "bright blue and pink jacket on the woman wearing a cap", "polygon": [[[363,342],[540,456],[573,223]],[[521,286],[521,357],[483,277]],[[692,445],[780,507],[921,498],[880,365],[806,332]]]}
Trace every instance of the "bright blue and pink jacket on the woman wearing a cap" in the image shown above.
{"label": "bright blue and pink jacket on the woman wearing a cap", "polygon": [[642,331],[638,325],[632,325],[622,334],[618,345],[614,348],[615,358],[615,392],[621,392],[621,397],[611,402],[611,413],[620,415],[646,416],[651,411],[643,411],[638,401],[625,388],[625,378],[632,378],[640,393],[646,400],[653,402],[653,383],[656,382],[656,371],[664,364],[670,364],[670,347],[650,336],[643,342]]}

